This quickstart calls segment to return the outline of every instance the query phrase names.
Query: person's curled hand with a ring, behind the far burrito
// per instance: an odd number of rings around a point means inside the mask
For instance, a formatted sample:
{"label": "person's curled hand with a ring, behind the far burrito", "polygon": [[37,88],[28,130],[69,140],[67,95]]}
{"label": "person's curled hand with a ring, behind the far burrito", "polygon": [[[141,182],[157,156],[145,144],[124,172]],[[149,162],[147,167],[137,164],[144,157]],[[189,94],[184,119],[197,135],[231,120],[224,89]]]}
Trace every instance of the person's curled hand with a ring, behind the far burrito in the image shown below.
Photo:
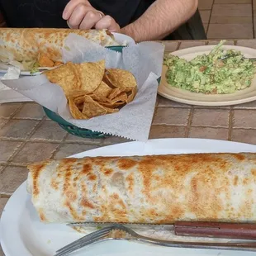
{"label": "person's curled hand with a ring, behind the far burrito", "polygon": [[62,17],[70,28],[91,29],[92,27],[119,32],[120,26],[110,17],[92,7],[88,0],[70,0],[64,8]]}

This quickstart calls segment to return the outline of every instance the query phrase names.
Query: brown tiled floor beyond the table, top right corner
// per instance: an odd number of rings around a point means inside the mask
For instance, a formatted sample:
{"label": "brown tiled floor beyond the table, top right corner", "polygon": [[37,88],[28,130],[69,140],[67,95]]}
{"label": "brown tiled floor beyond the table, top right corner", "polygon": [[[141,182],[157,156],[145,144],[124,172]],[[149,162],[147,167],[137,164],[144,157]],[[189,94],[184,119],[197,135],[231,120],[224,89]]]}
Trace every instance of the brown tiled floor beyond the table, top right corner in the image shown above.
{"label": "brown tiled floor beyond the table, top right corner", "polygon": [[199,0],[207,38],[255,38],[255,0]]}

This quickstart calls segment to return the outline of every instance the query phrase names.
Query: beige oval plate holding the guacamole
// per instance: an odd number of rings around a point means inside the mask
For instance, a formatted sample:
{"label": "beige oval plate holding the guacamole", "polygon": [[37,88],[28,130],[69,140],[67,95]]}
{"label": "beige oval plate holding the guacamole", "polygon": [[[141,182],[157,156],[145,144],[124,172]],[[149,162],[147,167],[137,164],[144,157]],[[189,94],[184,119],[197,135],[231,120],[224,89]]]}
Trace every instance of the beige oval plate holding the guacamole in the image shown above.
{"label": "beige oval plate holding the guacamole", "polygon": [[[197,55],[209,54],[214,47],[215,45],[197,46],[184,50],[178,50],[173,52],[172,54],[183,59],[191,60]],[[240,50],[245,57],[256,57],[256,50],[247,47],[224,45],[223,49]],[[161,83],[159,85],[159,94],[175,102],[182,102],[199,106],[227,106],[241,104],[245,102],[252,102],[256,100],[256,76],[254,77],[252,85],[247,89],[231,94],[206,95],[203,93],[189,92],[187,90],[168,86],[165,76],[166,71],[167,67],[164,66]]]}

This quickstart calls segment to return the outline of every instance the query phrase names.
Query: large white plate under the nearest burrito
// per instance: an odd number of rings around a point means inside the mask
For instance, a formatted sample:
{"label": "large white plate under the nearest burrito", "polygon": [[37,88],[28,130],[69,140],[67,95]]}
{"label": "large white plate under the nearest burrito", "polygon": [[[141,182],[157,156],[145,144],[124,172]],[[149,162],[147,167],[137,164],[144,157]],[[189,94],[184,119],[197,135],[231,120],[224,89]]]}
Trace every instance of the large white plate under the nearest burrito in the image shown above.
{"label": "large white plate under the nearest burrito", "polygon": [[[143,142],[130,142],[93,149],[73,157],[182,154],[201,152],[256,152],[255,145],[246,145],[220,140],[161,139]],[[52,256],[55,250],[81,237],[65,225],[42,224],[26,193],[26,183],[13,193],[2,212],[0,223],[2,249],[6,256]],[[128,241],[107,241],[92,244],[73,256],[255,256],[253,252],[236,252],[206,249],[173,249]]]}

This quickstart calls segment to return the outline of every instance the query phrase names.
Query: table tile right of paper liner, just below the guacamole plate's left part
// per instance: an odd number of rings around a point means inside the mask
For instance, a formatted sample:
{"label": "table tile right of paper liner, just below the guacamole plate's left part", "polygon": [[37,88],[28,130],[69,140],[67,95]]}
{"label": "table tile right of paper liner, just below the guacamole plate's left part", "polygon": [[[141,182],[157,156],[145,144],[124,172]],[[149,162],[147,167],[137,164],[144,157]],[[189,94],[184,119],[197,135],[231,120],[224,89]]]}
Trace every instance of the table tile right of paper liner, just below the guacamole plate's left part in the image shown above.
{"label": "table tile right of paper liner, just below the guacamole plate's left part", "polygon": [[186,126],[190,110],[187,108],[158,107],[153,125]]}

